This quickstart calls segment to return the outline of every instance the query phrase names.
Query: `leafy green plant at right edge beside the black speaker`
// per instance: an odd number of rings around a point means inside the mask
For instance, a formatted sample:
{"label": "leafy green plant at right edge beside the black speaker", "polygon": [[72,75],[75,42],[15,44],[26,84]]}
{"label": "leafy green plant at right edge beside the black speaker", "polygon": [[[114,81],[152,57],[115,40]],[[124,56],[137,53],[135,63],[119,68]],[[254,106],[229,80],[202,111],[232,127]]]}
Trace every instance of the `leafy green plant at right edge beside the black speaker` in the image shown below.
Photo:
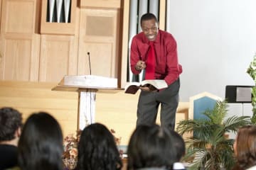
{"label": "leafy green plant at right edge beside the black speaker", "polygon": [[[252,77],[256,84],[256,54],[247,69],[247,74]],[[252,123],[256,123],[256,86],[252,87]]]}

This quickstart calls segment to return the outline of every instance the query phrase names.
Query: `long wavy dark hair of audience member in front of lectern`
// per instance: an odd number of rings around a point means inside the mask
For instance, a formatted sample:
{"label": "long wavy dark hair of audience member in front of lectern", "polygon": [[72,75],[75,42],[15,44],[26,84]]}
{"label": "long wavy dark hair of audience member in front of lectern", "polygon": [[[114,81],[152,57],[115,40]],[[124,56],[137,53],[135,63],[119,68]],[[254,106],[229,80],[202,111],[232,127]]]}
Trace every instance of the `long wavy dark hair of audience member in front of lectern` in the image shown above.
{"label": "long wavy dark hair of audience member in front of lectern", "polygon": [[78,144],[78,166],[81,170],[122,169],[114,136],[105,125],[88,125],[80,135]]}

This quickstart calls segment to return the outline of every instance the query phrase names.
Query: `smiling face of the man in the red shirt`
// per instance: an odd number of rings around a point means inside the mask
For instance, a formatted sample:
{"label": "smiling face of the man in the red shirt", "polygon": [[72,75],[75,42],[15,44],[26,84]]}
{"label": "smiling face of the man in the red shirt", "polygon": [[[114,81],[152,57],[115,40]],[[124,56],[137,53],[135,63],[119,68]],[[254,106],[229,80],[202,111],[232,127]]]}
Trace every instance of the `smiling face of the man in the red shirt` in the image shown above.
{"label": "smiling face of the man in the red shirt", "polygon": [[154,19],[142,21],[142,31],[150,41],[156,40],[158,30],[158,23]]}

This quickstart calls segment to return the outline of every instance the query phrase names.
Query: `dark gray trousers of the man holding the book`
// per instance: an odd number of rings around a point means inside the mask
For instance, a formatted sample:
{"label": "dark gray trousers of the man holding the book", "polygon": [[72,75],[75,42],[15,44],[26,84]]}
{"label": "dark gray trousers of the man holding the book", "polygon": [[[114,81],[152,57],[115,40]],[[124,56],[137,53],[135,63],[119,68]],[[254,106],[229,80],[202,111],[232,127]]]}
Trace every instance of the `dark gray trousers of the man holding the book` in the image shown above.
{"label": "dark gray trousers of the man holding the book", "polygon": [[159,105],[161,104],[161,126],[174,130],[179,88],[180,81],[177,79],[162,91],[141,91],[137,108],[137,126],[154,125]]}

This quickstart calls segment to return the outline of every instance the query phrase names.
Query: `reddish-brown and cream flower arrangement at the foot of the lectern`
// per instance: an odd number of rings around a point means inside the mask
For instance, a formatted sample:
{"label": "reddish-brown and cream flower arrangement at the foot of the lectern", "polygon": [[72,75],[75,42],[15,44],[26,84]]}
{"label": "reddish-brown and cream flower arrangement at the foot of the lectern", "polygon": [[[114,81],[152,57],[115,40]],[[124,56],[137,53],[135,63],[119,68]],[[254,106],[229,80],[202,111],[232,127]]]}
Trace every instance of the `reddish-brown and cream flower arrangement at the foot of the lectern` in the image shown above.
{"label": "reddish-brown and cream flower arrangement at the foot of the lectern", "polygon": [[[113,129],[110,130],[112,135],[114,136],[115,131]],[[70,134],[64,138],[63,147],[63,164],[66,170],[75,169],[76,164],[78,163],[78,142],[80,140],[80,135],[82,130],[77,130],[75,137],[73,134]],[[114,140],[117,145],[120,145],[122,137],[115,137]],[[122,155],[122,150],[119,150]]]}

